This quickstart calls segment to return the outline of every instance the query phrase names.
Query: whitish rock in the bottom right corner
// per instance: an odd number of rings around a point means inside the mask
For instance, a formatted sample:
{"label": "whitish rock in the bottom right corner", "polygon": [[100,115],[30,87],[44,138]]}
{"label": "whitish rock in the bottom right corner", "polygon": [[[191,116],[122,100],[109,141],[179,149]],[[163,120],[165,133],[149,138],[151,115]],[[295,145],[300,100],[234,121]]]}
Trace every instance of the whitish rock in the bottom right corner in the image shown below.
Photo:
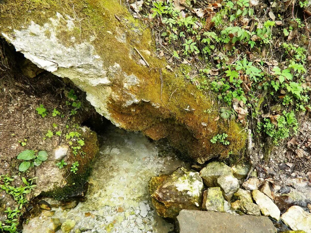
{"label": "whitish rock in the bottom right corner", "polygon": [[282,214],[281,220],[294,231],[311,232],[311,214],[299,206],[290,207]]}

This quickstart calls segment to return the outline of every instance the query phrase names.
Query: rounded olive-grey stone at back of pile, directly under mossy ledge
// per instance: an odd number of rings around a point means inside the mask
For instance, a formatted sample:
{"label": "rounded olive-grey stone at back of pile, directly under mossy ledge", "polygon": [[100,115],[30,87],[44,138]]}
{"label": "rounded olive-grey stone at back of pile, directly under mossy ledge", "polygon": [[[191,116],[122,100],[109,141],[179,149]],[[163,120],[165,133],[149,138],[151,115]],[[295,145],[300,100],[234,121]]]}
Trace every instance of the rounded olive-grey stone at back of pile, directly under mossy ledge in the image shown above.
{"label": "rounded olive-grey stone at back of pile, directly under mossy ledge", "polygon": [[214,187],[214,182],[219,176],[232,174],[231,167],[223,162],[210,162],[200,171],[200,176],[207,187]]}

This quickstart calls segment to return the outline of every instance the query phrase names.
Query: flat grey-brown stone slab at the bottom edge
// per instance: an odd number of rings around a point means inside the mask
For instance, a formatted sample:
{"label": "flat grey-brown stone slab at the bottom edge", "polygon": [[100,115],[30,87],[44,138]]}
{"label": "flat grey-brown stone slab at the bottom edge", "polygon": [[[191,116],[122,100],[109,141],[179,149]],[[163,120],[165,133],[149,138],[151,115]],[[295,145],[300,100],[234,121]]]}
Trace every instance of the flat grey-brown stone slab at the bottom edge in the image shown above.
{"label": "flat grey-brown stone slab at the bottom edge", "polygon": [[[208,221],[207,221],[208,219]],[[232,215],[229,213],[182,210],[177,217],[177,232],[214,233],[274,233],[275,227],[268,217]]]}

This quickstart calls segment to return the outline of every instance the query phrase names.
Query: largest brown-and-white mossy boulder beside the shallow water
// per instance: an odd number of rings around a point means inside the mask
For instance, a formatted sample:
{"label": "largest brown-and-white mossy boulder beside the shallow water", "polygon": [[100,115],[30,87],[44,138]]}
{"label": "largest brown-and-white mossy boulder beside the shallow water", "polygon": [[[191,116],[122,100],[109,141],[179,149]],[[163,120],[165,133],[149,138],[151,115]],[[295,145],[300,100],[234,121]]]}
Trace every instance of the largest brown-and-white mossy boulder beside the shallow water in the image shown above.
{"label": "largest brown-and-white mossy boulder beside the shallow water", "polygon": [[171,175],[151,177],[149,194],[156,212],[174,218],[182,209],[199,210],[202,205],[203,182],[198,172],[178,168]]}

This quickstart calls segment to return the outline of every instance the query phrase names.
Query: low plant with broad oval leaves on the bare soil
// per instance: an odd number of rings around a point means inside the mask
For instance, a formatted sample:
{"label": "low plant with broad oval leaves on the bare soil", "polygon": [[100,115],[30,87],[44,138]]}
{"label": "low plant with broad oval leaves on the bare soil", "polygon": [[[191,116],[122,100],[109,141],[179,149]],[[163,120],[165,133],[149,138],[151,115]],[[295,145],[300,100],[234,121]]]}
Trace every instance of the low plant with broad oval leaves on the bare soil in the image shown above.
{"label": "low plant with broad oval leaves on the bare soil", "polygon": [[19,171],[26,171],[29,167],[39,166],[42,161],[48,158],[48,153],[44,150],[39,151],[37,155],[35,153],[34,150],[24,150],[18,154],[17,159],[25,160],[19,165]]}

